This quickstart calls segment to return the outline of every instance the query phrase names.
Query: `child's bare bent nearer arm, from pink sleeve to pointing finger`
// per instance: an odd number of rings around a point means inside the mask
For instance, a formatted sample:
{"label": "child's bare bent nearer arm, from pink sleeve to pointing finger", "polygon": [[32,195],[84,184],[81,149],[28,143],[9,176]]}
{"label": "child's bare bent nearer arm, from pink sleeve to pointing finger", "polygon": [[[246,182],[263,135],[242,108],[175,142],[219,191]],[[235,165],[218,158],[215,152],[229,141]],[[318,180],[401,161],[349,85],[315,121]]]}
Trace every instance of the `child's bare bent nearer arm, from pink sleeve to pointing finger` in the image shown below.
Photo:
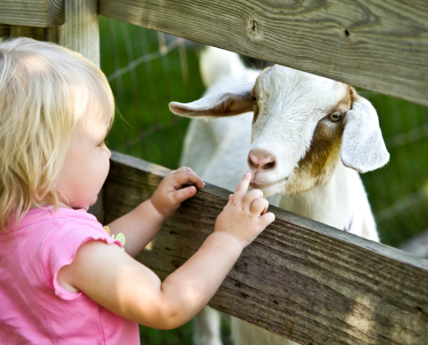
{"label": "child's bare bent nearer arm, from pink sleeve to pointing finger", "polygon": [[215,231],[188,261],[161,283],[146,266],[115,244],[87,242],[58,280],[68,290],[81,290],[113,313],[146,326],[170,329],[199,312],[213,297],[242,249],[275,216],[260,190],[246,194],[245,175],[217,217]]}

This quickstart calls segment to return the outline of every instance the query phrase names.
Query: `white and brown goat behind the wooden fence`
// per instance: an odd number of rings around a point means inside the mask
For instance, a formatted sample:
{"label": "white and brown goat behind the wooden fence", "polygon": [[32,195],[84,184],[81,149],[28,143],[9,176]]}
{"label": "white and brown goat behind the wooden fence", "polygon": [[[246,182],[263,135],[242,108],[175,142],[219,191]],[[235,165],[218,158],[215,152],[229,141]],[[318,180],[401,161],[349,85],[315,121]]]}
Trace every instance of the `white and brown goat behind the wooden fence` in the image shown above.
{"label": "white and brown goat behind the wooden fence", "polygon": [[[250,188],[265,197],[279,195],[280,207],[378,241],[358,175],[389,161],[371,103],[345,83],[284,66],[257,72],[255,79],[255,71],[236,63],[237,55],[216,48],[201,61],[202,75],[211,76],[205,78],[208,92],[191,103],[171,102],[170,109],[219,119],[192,121],[182,164],[229,190],[249,171]],[[213,61],[223,61],[221,70],[232,72],[213,78]],[[227,63],[235,67],[224,68]],[[218,318],[208,309],[203,313],[211,321],[197,320],[208,327],[197,330],[195,344],[221,344],[220,333],[209,327],[210,322],[216,327]],[[235,345],[295,344],[235,318],[232,335]]]}

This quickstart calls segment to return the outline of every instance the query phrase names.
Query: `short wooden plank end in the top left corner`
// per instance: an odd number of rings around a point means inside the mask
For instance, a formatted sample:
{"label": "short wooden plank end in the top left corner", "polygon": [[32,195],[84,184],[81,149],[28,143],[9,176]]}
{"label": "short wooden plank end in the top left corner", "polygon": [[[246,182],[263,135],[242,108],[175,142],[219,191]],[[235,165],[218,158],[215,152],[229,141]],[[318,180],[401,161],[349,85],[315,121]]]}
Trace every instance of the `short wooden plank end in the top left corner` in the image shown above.
{"label": "short wooden plank end in the top left corner", "polygon": [[48,28],[64,24],[65,0],[0,0],[0,23]]}

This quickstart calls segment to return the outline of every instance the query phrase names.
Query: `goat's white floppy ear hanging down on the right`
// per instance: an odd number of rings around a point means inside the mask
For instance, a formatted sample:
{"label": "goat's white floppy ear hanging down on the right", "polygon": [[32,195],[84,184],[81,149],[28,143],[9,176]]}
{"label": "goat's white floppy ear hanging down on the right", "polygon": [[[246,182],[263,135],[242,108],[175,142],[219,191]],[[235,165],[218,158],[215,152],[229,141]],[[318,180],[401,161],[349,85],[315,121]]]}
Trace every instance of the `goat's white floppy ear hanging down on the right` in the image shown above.
{"label": "goat's white floppy ear hanging down on the right", "polygon": [[359,172],[375,170],[389,161],[376,110],[358,95],[344,117],[340,158],[344,166]]}

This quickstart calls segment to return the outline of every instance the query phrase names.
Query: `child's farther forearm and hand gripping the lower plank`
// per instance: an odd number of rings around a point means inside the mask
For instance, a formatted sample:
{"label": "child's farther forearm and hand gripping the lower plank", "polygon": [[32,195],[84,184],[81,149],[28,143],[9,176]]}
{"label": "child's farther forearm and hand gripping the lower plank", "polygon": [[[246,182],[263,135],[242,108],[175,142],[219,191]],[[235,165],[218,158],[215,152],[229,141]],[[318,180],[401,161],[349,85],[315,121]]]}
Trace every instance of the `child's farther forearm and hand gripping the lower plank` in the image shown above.
{"label": "child's farther forearm and hand gripping the lower plank", "polygon": [[126,253],[135,257],[157,234],[166,218],[171,217],[182,202],[196,194],[195,186],[182,188],[191,182],[204,188],[204,182],[191,168],[179,168],[166,176],[153,196],[130,213],[108,224],[110,233],[123,233]]}

